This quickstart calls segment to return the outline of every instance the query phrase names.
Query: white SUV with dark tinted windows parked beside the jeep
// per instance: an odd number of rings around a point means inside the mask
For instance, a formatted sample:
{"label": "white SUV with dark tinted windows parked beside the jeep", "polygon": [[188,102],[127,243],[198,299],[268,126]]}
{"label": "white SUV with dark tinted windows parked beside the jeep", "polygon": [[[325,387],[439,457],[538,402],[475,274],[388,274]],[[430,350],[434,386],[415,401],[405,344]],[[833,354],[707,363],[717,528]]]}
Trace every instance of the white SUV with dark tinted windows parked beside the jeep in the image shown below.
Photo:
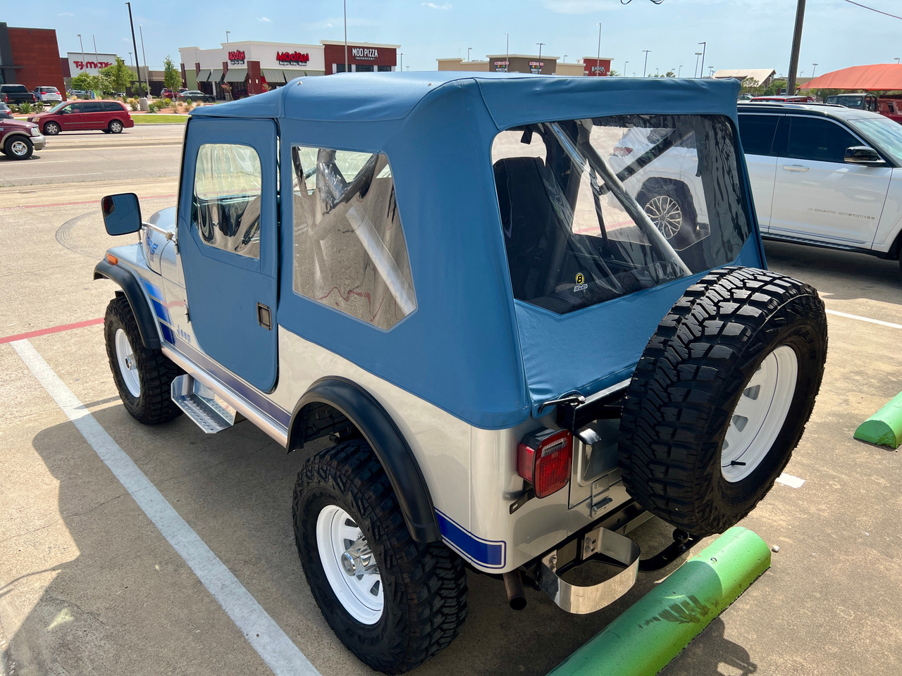
{"label": "white SUV with dark tinted windows parked beside the jeep", "polygon": [[899,258],[902,126],[834,105],[740,105],[739,123],[763,237]]}

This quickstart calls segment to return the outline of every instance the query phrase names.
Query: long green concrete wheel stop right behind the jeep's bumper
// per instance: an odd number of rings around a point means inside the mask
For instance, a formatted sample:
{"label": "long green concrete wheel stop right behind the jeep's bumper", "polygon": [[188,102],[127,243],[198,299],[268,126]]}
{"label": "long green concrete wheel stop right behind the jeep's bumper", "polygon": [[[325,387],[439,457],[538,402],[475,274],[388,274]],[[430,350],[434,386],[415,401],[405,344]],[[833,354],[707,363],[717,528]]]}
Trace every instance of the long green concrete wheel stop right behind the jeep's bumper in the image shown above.
{"label": "long green concrete wheel stop right behind the jeep's bumper", "polygon": [[548,676],[654,676],[769,567],[768,545],[734,526]]}

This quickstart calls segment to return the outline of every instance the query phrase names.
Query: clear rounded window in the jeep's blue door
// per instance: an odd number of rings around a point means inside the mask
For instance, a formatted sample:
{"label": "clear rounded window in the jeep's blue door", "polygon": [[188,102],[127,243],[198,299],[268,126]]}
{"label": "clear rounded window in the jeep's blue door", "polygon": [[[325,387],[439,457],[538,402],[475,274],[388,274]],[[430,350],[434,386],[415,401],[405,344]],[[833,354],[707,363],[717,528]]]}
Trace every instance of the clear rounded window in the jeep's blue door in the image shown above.
{"label": "clear rounded window in the jeep's blue door", "polygon": [[260,157],[250,146],[204,143],[198,149],[191,223],[222,251],[260,258]]}

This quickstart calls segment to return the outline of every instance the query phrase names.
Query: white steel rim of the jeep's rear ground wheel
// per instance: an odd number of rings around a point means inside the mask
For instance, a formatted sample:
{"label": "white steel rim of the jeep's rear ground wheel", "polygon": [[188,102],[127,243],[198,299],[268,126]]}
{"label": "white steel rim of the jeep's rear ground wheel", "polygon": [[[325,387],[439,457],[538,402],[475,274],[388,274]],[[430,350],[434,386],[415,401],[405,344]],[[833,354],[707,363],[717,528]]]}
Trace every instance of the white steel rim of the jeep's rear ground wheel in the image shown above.
{"label": "white steel rim of the jeep's rear ground wheel", "polygon": [[323,571],[336,598],[351,617],[374,625],[385,605],[382,576],[363,532],[337,505],[327,505],[317,517],[317,548]]}

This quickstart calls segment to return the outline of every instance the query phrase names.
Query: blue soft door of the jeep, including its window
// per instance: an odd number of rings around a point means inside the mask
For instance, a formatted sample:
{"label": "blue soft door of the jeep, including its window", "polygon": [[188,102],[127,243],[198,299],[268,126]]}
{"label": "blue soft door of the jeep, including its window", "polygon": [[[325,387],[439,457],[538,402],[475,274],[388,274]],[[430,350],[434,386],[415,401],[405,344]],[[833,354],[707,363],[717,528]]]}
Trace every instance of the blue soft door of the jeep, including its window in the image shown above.
{"label": "blue soft door of the jeep, including its window", "polygon": [[277,143],[272,120],[192,118],[179,189],[198,347],[264,392],[277,376]]}

